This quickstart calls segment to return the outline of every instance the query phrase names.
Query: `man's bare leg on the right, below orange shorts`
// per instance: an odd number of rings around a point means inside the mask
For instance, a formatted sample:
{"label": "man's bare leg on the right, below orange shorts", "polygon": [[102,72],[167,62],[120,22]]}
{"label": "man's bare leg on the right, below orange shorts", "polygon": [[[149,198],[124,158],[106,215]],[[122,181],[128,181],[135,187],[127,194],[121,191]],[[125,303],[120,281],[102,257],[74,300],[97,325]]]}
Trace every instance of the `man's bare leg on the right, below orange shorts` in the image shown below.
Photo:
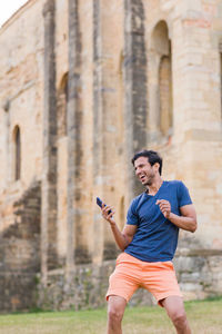
{"label": "man's bare leg on the right, below orange shorts", "polygon": [[178,334],[191,334],[183,299],[179,296],[170,296],[162,301],[162,305],[168,312],[169,317],[173,322]]}

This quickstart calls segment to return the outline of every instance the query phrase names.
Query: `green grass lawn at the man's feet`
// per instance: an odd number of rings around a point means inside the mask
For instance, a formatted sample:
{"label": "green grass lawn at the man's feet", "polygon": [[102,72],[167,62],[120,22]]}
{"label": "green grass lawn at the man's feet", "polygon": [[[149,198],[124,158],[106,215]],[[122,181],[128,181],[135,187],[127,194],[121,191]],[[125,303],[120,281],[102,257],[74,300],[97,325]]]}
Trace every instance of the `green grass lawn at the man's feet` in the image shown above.
{"label": "green grass lawn at the man's feet", "polygon": [[[185,303],[193,334],[222,334],[222,298]],[[0,315],[1,334],[105,334],[107,310]],[[124,334],[175,333],[164,310],[128,307]]]}

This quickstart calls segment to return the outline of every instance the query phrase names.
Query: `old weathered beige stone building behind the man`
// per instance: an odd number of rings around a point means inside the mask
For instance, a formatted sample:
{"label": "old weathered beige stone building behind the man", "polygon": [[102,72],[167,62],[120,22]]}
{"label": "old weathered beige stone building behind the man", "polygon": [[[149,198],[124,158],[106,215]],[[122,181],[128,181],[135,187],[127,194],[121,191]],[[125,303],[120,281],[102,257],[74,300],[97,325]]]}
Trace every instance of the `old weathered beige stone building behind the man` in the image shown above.
{"label": "old weathered beige stone building behind the man", "polygon": [[222,0],[29,0],[0,46],[0,310],[104,303],[118,249],[95,197],[122,227],[148,147],[198,212],[184,297],[221,294]]}

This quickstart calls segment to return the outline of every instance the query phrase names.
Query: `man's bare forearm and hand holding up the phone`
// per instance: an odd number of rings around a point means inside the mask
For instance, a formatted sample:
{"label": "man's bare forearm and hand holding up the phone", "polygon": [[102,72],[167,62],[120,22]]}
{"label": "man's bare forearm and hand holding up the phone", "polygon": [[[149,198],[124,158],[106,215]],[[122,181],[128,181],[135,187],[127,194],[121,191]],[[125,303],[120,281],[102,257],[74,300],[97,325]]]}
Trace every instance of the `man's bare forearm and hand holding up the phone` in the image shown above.
{"label": "man's bare forearm and hand holding up the phone", "polygon": [[[112,210],[112,213],[108,214],[109,210]],[[132,242],[133,235],[137,230],[137,225],[125,225],[123,230],[121,232],[113,218],[114,210],[110,206],[102,206],[102,216],[103,218],[110,223],[112,234],[114,236],[115,243],[118,247],[121,250],[124,250],[124,248]]]}

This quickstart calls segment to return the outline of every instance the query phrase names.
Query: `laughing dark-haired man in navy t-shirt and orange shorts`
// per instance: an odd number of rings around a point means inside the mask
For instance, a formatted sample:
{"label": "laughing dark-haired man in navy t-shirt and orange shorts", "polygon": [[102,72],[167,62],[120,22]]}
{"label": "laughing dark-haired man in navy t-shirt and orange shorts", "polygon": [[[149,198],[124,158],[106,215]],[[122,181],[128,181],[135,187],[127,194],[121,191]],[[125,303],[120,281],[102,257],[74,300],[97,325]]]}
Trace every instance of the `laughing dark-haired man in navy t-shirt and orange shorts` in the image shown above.
{"label": "laughing dark-haired man in navy t-shirt and orange shorts", "polygon": [[195,209],[182,181],[162,180],[162,159],[157,151],[135,154],[132,164],[145,191],[132,200],[122,232],[113,218],[114,209],[102,205],[102,216],[123,252],[118,256],[107,293],[108,334],[122,333],[125,305],[139,287],[149,289],[165,308],[176,333],[190,334],[172,258],[179,228],[196,229]]}

